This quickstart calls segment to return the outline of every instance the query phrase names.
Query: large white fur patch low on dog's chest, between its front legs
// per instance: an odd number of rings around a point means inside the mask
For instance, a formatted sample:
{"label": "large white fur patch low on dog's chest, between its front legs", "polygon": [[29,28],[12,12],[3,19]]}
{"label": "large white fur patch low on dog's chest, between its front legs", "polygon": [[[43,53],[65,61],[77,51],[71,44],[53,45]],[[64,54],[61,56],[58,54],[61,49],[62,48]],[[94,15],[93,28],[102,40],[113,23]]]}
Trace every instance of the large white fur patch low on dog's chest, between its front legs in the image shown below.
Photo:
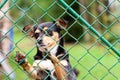
{"label": "large white fur patch low on dog's chest, between its front legs", "polygon": [[54,70],[54,65],[50,60],[35,60],[33,66],[38,66],[41,69]]}

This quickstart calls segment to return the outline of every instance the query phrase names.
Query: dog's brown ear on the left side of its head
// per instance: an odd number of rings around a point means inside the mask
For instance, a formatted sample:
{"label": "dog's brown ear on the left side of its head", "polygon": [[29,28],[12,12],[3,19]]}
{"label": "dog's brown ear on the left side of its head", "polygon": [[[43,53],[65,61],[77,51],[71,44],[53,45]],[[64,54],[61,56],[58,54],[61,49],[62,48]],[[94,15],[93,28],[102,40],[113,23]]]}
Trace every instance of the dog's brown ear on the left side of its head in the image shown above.
{"label": "dog's brown ear on the left side of its head", "polygon": [[23,28],[23,32],[26,32],[26,34],[30,37],[33,37],[34,36],[34,32],[35,32],[35,28],[32,27],[31,25],[26,25],[24,28]]}

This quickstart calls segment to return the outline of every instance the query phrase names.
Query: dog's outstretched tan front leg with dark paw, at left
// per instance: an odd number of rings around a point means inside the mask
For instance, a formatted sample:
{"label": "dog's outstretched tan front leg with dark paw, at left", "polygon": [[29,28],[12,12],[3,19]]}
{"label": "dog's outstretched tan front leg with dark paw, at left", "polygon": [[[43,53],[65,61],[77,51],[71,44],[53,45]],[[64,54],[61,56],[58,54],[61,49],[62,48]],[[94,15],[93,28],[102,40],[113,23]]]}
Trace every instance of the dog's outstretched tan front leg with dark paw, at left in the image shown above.
{"label": "dog's outstretched tan front leg with dark paw, at left", "polygon": [[[25,60],[25,55],[16,52],[15,61],[34,79],[37,79],[37,71],[35,68]],[[40,79],[39,79],[40,80]]]}

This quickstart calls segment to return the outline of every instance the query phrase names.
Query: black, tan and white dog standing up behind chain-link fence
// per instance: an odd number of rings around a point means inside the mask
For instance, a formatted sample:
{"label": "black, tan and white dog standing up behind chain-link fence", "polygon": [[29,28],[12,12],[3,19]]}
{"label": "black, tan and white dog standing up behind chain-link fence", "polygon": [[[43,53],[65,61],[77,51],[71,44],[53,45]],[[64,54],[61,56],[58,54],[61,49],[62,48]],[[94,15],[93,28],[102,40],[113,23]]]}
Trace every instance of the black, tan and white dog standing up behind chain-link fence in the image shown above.
{"label": "black, tan and white dog standing up behind chain-link fence", "polygon": [[69,62],[69,54],[64,49],[61,34],[67,27],[67,21],[58,19],[44,22],[32,27],[23,28],[28,36],[37,41],[37,53],[33,65],[29,64],[25,55],[16,52],[15,60],[28,72],[34,80],[76,80],[76,72]]}

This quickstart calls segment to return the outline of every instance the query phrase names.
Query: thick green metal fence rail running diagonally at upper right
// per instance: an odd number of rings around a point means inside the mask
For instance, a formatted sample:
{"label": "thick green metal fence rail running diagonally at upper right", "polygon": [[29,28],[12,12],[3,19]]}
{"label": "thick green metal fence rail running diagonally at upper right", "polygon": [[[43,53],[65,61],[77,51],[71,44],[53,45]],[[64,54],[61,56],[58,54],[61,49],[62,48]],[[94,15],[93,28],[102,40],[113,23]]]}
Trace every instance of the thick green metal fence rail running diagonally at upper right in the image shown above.
{"label": "thick green metal fence rail running diagonally at upper right", "polygon": [[64,0],[58,0],[61,5],[68,10],[68,12],[81,21],[89,30],[91,30],[97,37],[99,37],[113,52],[115,52],[120,57],[120,52],[113,47],[113,45],[106,40],[97,30],[95,30],[85,19],[83,19],[76,11],[74,11]]}

